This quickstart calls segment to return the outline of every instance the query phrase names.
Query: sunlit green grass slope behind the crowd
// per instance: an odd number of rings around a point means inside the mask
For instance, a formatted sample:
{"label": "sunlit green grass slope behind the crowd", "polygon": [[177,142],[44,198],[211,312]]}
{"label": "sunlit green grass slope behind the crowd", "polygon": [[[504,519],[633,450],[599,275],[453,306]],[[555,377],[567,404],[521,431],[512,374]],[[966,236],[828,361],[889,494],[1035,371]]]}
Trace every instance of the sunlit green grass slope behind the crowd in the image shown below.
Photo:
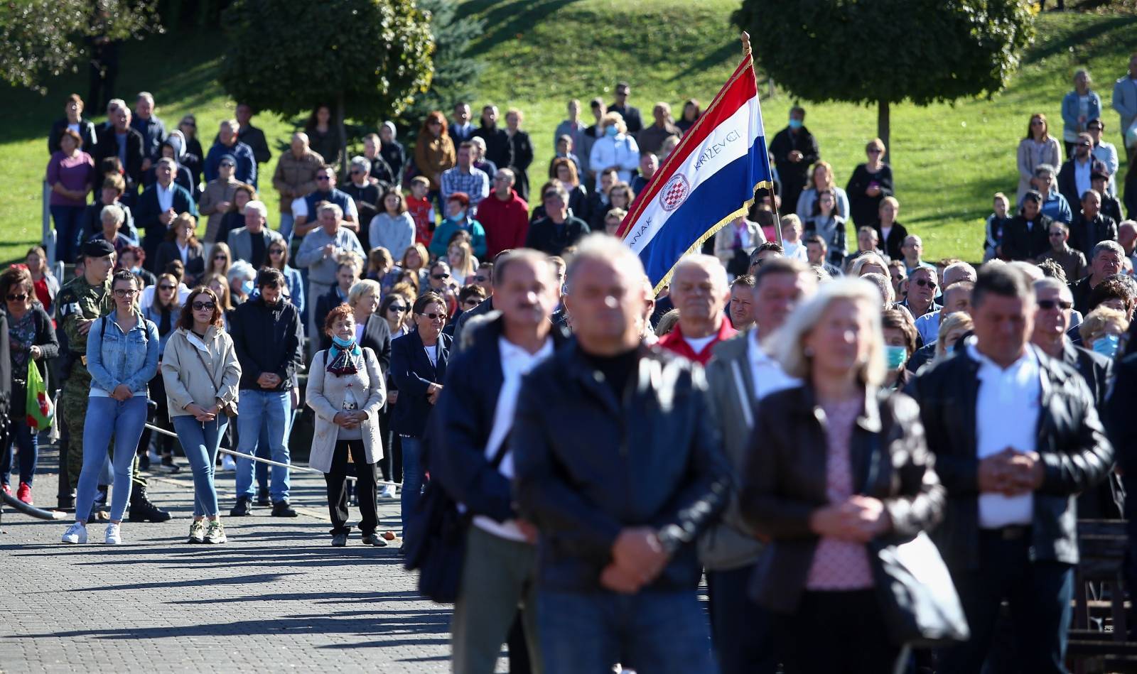
{"label": "sunlit green grass slope behind the crowd", "polygon": [[[628,80],[632,102],[647,119],[657,100],[669,101],[677,114],[688,98],[709,102],[740,58],[737,31],[729,24],[736,6],[732,0],[695,5],[678,0],[468,0],[464,11],[487,20],[483,36],[471,50],[487,64],[481,98],[472,103],[475,109],[493,102],[503,111],[523,110],[523,126],[537,149],[530,176],[540,184],[553,155],[553,130],[570,98],[611,100],[615,82]],[[132,100],[130,94],[140,90],[153,92],[167,125],[176,124],[184,113],[194,113],[202,135],[208,136],[202,142],[208,149],[217,122],[232,114],[232,101],[215,78],[222,48],[216,32],[161,35],[131,44],[124,50],[118,95]],[[761,49],[757,35],[755,50]],[[895,106],[890,149],[901,220],[924,238],[927,256],[977,259],[991,194],[1014,191],[1018,183],[1015,148],[1030,115],[1045,113],[1052,131],[1061,132],[1062,95],[1079,66],[1089,67],[1094,88],[1109,108],[1113,81],[1135,50],[1137,16],[1047,13],[1039,17],[1035,47],[1003,93],[991,100],[927,108]],[[887,77],[888,73],[865,76]],[[6,97],[6,123],[0,125],[0,260],[23,255],[40,239],[45,133],[60,115],[64,97],[70,91],[85,93],[85,74],[61,77],[49,83],[49,89],[47,98],[20,90]],[[785,126],[792,102],[786,94],[763,101],[770,138]],[[865,141],[877,133],[875,108],[806,107],[806,124],[844,185],[854,166],[864,160]],[[101,120],[99,115],[94,118]],[[1117,114],[1107,109],[1104,119],[1106,139],[1120,144]],[[296,120],[265,114],[255,122],[279,155]],[[262,170],[271,174],[273,168],[275,159]],[[275,214],[276,194],[268,190],[264,198]]]}

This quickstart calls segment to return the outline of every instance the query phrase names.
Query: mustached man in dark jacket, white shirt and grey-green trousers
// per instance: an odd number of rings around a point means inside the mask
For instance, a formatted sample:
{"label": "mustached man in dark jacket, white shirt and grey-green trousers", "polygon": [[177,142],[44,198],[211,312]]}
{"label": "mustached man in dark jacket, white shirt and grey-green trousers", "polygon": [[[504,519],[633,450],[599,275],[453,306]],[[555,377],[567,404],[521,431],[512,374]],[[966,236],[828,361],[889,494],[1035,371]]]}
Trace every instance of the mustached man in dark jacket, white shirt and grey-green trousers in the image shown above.
{"label": "mustached man in dark jacket, white shirt and grey-green trousers", "polygon": [[507,440],[522,377],[564,339],[549,322],[557,300],[546,257],[515,251],[497,268],[500,310],[473,328],[471,346],[449,363],[434,415],[447,442],[430,457],[431,477],[473,516],[450,626],[456,672],[493,668],[522,601],[529,656],[540,661],[537,530],[513,506]]}

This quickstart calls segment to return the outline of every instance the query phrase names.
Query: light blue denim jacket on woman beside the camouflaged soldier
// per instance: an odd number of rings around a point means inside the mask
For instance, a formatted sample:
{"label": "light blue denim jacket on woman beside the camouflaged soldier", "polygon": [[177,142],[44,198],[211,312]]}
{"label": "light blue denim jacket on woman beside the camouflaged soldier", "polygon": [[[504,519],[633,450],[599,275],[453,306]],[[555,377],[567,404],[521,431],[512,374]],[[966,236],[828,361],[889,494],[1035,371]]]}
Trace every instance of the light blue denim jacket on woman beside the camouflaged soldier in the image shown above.
{"label": "light blue denim jacket on woman beside the camouflaged soldier", "polygon": [[118,310],[96,319],[86,333],[86,371],[91,391],[113,392],[126,384],[132,393],[146,392],[158,372],[158,328],[138,315],[128,333],[118,326]]}

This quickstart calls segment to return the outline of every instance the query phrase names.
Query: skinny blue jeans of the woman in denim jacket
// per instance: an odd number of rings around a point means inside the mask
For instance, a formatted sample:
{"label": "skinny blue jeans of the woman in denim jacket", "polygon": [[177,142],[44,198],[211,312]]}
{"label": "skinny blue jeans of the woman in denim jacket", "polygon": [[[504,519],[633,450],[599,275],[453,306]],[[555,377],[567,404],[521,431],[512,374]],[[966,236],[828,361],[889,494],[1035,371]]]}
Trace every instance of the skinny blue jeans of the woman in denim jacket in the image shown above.
{"label": "skinny blue jeans of the woman in denim jacket", "polygon": [[118,401],[114,398],[91,398],[83,423],[83,469],[78,474],[75,497],[75,519],[91,511],[99,474],[107,460],[110,435],[115,436],[111,456],[115,482],[110,494],[110,519],[121,522],[131,498],[131,464],[146,425],[146,396]]}

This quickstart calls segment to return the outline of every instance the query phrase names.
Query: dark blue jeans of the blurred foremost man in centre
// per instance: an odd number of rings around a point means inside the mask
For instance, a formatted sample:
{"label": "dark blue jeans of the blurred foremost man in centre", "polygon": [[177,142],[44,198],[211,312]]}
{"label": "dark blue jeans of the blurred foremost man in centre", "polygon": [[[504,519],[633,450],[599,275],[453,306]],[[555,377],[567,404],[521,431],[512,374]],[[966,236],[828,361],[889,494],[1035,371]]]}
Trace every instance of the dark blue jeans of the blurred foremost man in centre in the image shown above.
{"label": "dark blue jeans of the blurred foremost man in centre", "polygon": [[545,674],[713,674],[711,633],[695,590],[616,594],[538,590]]}

